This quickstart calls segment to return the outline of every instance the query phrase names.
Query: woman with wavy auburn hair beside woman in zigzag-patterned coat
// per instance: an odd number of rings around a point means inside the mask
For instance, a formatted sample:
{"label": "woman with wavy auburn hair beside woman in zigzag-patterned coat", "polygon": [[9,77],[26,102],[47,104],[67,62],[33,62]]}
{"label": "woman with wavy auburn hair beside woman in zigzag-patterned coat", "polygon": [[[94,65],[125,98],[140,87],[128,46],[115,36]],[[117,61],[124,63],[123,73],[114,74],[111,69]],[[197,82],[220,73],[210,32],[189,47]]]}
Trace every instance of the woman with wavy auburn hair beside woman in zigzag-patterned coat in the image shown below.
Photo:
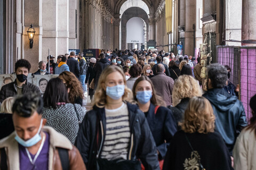
{"label": "woman with wavy auburn hair beside woman in zigzag-patterned coat", "polygon": [[70,103],[83,106],[83,87],[75,74],[69,71],[63,71],[60,73],[59,78],[68,89],[68,99]]}

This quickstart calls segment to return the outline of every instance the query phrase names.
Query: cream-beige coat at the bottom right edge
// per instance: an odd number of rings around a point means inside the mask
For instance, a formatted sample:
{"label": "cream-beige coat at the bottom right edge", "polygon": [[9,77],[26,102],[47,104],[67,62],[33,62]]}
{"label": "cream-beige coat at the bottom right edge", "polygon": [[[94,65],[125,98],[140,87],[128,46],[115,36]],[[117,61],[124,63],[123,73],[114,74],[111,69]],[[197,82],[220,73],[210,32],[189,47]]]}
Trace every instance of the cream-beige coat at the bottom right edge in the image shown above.
{"label": "cream-beige coat at the bottom right edge", "polygon": [[239,134],[233,156],[235,170],[256,169],[256,136],[254,130],[244,129]]}

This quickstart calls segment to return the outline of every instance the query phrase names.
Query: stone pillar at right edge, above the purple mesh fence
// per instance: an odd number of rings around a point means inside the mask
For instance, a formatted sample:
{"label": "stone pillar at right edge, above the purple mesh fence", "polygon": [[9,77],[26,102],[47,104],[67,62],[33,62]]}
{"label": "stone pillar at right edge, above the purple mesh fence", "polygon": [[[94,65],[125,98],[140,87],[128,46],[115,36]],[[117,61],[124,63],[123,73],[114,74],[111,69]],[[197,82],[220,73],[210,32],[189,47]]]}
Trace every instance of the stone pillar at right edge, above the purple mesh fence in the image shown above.
{"label": "stone pillar at right edge, above the purple mesh fence", "polygon": [[[256,13],[256,1],[247,0],[243,1],[242,5],[242,41],[243,40],[256,40],[256,25],[254,14]],[[245,44],[242,46],[255,46],[255,44]]]}

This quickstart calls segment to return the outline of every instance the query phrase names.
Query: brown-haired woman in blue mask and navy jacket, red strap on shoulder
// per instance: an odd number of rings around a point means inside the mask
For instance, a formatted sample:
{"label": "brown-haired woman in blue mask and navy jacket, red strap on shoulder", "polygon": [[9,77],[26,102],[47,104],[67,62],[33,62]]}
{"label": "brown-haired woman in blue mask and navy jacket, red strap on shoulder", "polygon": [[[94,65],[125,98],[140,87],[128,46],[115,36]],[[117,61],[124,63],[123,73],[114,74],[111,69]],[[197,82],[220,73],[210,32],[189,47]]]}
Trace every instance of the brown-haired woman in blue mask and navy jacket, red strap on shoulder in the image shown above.
{"label": "brown-haired woman in blue mask and navy jacket, red strap on shoulder", "polygon": [[165,107],[163,99],[156,95],[151,80],[142,76],[138,78],[132,89],[133,98],[137,101],[142,112],[145,113],[150,130],[153,134],[160,166],[167,152],[174,133],[177,131],[175,119],[170,109]]}

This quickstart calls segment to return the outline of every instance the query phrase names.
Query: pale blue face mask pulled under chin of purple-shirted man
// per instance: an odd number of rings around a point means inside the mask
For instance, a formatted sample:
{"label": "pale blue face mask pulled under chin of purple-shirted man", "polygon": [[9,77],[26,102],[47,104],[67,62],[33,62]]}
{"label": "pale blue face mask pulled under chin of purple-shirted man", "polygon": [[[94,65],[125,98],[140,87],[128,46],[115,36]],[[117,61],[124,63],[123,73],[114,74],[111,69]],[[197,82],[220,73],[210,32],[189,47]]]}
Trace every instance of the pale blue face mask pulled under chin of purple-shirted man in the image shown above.
{"label": "pale blue face mask pulled under chin of purple-shirted man", "polygon": [[39,129],[38,129],[36,135],[34,135],[34,137],[32,137],[31,139],[29,139],[27,141],[21,139],[19,137],[19,135],[17,134],[17,132],[15,131],[15,134],[16,134],[15,140],[17,140],[17,142],[20,143],[20,145],[22,145],[23,147],[26,147],[26,148],[36,145],[36,143],[38,143],[42,139],[41,135],[39,134],[42,129],[42,124],[43,124],[43,120],[41,119],[41,123],[40,123]]}

